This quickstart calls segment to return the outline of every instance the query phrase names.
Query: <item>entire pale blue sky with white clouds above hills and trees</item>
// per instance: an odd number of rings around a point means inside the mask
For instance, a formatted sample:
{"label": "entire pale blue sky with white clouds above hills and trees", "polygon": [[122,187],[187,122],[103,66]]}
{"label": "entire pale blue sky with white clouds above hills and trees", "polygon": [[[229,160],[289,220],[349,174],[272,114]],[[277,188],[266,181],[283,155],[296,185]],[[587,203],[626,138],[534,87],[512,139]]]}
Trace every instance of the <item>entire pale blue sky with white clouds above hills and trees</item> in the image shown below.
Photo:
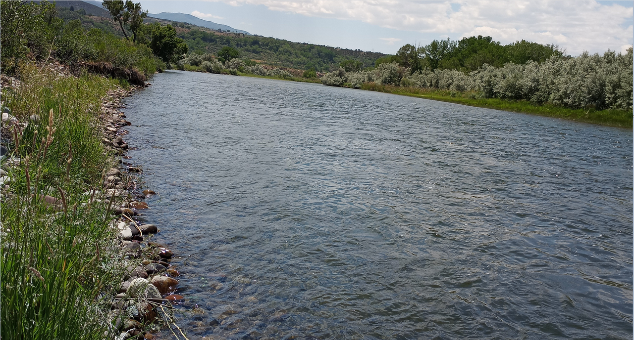
{"label": "entire pale blue sky with white clouds above hills and trees", "polygon": [[634,1],[208,0],[144,1],[150,13],[186,13],[251,34],[395,54],[404,44],[489,35],[566,54],[625,52]]}

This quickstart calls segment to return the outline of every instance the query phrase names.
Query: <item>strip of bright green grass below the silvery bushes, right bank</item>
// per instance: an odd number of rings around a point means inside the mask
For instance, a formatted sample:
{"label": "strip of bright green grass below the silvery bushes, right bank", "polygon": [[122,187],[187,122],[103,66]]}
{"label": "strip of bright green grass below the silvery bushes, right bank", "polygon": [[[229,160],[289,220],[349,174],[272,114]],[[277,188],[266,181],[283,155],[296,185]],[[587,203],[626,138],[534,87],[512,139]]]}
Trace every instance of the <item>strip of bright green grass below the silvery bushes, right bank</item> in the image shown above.
{"label": "strip of bright green grass below the silvery bushes, right bank", "polygon": [[440,100],[468,106],[486,107],[511,112],[522,112],[554,118],[570,119],[584,123],[632,128],[632,112],[621,110],[568,109],[553,105],[534,105],[526,100],[504,100],[496,98],[480,98],[474,92],[454,92],[450,90],[423,89],[412,87],[396,87],[364,83],[363,90],[385,92],[389,94],[407,95],[424,99]]}

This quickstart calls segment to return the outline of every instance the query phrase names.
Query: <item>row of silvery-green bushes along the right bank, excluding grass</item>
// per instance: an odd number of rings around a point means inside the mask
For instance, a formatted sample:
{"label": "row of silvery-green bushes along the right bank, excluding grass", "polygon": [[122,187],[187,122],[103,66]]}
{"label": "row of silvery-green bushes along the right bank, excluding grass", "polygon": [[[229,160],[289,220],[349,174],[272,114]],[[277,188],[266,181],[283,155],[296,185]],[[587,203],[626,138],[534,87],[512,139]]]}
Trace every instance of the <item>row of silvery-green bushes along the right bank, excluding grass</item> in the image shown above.
{"label": "row of silvery-green bushes along the right bank, excluding grass", "polygon": [[632,109],[632,49],[626,54],[607,51],[603,56],[584,53],[575,58],[552,56],[543,63],[484,64],[469,73],[440,69],[412,72],[398,63],[382,63],[375,70],[323,76],[331,86],[361,88],[363,83],[414,88],[473,91],[484,98],[529,100],[570,108]]}

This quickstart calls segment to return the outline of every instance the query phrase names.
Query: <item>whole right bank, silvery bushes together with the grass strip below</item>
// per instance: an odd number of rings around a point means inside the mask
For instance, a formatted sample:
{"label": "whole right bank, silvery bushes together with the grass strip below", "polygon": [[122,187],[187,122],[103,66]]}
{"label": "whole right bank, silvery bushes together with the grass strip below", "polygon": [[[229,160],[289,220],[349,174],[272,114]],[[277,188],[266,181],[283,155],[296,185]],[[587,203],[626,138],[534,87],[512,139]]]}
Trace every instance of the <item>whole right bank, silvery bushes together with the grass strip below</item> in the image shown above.
{"label": "whole right bank, silvery bushes together with the grass strip below", "polygon": [[[584,53],[574,58],[553,54],[541,62],[500,67],[484,63],[474,71],[432,70],[429,63],[422,68],[420,61],[411,62],[420,53],[425,50],[410,52],[408,62],[396,59],[373,70],[342,67],[321,82],[632,128],[631,47],[626,54],[607,51],[603,56]],[[414,71],[408,65],[418,68]]]}

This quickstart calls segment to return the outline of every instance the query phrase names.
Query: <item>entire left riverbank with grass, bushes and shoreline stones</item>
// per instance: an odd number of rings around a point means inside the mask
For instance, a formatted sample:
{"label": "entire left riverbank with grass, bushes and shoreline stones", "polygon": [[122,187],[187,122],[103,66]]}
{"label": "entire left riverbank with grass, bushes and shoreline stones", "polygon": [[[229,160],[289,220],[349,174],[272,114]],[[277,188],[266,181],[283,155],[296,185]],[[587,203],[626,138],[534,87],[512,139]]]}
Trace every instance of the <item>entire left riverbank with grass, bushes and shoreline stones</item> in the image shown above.
{"label": "entire left riverbank with grass, bushes and shoreline stones", "polygon": [[149,241],[155,193],[127,161],[119,109],[179,42],[156,26],[155,49],[87,30],[44,1],[3,2],[0,15],[0,337],[153,339],[183,296],[173,253]]}

